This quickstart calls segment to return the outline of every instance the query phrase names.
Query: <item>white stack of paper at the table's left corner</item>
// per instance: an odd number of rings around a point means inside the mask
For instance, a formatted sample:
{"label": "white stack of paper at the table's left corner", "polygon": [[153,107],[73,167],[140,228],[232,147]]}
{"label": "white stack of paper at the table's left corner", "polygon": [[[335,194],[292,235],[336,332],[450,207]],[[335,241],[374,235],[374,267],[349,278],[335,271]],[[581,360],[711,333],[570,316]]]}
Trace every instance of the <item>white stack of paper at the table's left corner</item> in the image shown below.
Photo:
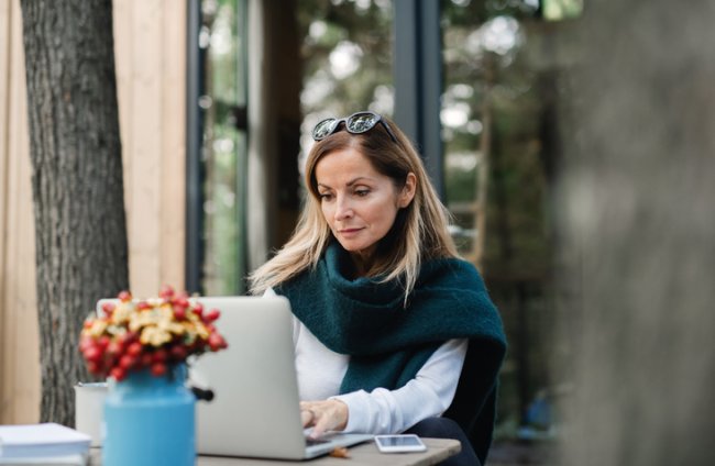
{"label": "white stack of paper at the table's left corner", "polygon": [[84,465],[90,442],[55,423],[0,425],[0,465]]}

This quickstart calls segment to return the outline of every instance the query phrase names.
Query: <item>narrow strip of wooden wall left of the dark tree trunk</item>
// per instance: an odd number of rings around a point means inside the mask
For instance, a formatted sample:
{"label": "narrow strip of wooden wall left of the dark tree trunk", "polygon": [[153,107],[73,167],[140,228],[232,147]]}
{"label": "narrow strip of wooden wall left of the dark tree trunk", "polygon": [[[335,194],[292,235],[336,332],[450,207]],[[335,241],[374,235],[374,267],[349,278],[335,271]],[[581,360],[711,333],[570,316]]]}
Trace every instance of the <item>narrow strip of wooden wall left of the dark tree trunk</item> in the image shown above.
{"label": "narrow strip of wooden wall left of the dark tree trunk", "polygon": [[0,7],[0,422],[40,415],[35,244],[22,22]]}

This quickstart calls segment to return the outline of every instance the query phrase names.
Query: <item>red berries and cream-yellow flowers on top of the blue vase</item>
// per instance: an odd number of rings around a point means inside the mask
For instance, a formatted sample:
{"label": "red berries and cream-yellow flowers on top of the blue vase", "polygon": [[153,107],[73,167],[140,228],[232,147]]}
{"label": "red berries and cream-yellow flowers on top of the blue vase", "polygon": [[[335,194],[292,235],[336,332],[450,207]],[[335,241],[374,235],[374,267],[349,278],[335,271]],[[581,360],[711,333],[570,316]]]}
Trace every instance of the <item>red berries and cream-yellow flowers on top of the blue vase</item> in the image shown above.
{"label": "red berries and cream-yellow flowers on top of the blue vase", "polygon": [[191,355],[228,347],[213,325],[220,311],[205,310],[186,292],[165,286],[158,298],[134,300],[129,291],[117,298],[103,303],[103,315],[85,320],[79,351],[90,374],[121,381],[148,369],[161,377]]}

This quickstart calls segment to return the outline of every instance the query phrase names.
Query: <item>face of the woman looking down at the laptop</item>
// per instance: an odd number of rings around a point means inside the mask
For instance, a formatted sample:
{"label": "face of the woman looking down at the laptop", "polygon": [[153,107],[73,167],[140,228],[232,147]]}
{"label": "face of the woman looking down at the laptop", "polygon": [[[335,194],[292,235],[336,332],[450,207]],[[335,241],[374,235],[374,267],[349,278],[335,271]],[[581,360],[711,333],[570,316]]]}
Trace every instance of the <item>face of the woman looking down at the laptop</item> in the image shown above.
{"label": "face of the woman looking down at the laptop", "polygon": [[395,223],[398,210],[415,197],[415,175],[410,173],[398,191],[392,178],[375,170],[354,148],[324,155],[315,175],[322,214],[360,269]]}

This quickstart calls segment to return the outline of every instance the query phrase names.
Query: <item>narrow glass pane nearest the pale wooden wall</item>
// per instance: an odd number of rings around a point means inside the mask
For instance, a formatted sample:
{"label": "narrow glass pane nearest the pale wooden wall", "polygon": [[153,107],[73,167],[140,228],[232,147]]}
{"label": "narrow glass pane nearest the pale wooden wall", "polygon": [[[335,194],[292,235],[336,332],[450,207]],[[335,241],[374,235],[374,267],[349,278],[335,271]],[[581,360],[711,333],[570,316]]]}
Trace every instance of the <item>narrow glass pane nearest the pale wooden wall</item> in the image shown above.
{"label": "narrow glass pane nearest the pale wooden wall", "polygon": [[244,290],[245,1],[202,0],[202,243],[205,295]]}

